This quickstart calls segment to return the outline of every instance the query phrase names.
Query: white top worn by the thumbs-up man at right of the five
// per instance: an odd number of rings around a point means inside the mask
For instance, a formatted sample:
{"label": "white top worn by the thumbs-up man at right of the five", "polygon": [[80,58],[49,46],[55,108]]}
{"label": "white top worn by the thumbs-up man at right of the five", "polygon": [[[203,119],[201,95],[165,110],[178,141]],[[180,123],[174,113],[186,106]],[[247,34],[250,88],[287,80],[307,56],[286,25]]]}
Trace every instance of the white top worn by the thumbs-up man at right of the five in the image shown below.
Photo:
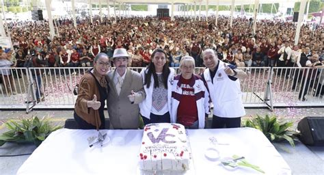
{"label": "white top worn by the thumbs-up man at right of the five", "polygon": [[211,73],[207,68],[204,70],[204,79],[206,80],[211,100],[214,104],[213,113],[222,118],[238,118],[245,115],[245,109],[242,103],[242,93],[240,81],[232,81],[224,71],[224,62],[219,60],[219,66],[213,83]]}

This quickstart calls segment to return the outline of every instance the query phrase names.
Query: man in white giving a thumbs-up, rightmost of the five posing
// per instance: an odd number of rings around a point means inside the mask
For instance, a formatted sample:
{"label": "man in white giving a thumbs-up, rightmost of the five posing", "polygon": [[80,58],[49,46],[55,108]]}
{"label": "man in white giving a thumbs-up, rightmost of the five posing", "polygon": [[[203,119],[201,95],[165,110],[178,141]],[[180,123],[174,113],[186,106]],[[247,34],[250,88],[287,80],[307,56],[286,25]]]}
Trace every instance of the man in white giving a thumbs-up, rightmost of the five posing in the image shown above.
{"label": "man in white giving a thumbs-up, rightmost of the five posing", "polygon": [[213,49],[202,52],[202,60],[207,67],[202,79],[214,105],[212,128],[240,127],[245,109],[239,79],[245,79],[247,74],[232,64],[221,62]]}

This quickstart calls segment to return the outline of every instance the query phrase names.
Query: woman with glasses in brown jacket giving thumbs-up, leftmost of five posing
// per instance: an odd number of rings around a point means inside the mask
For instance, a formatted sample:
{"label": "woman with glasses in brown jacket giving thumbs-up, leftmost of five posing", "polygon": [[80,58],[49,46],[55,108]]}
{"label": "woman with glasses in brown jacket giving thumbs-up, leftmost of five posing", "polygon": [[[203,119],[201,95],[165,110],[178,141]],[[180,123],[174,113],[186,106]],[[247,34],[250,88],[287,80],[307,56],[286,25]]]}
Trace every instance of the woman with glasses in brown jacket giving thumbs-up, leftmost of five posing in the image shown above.
{"label": "woman with glasses in brown jacket giving thumbs-up, leftmost of five posing", "polygon": [[108,96],[105,75],[109,67],[108,56],[105,53],[99,53],[94,58],[94,68],[85,72],[80,80],[74,113],[79,129],[105,129],[103,111]]}

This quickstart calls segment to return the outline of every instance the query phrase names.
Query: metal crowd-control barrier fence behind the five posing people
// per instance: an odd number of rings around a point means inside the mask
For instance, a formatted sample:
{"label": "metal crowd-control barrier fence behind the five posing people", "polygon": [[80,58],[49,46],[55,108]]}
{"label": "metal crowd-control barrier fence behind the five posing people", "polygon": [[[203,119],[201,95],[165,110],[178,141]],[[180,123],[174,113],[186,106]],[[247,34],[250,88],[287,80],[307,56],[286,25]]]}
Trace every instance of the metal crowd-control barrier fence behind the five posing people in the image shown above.
{"label": "metal crowd-control barrier fence behind the five posing people", "polygon": [[[72,109],[77,99],[74,87],[87,69],[0,68],[0,109]],[[142,68],[131,69],[140,72]],[[323,68],[240,69],[249,75],[240,80],[245,107],[324,106]],[[196,68],[195,73],[203,70]]]}

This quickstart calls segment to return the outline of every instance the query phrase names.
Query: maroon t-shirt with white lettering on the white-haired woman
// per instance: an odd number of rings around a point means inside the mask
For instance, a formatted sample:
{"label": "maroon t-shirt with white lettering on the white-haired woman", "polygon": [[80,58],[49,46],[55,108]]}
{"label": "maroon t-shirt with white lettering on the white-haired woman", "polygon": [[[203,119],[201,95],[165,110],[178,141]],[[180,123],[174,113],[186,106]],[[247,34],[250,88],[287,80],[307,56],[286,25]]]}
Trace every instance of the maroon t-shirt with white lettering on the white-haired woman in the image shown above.
{"label": "maroon t-shirt with white lettering on the white-haired woman", "polygon": [[195,102],[195,92],[189,85],[191,79],[184,79],[180,76],[180,87],[183,90],[177,111],[177,121],[184,126],[191,126],[198,120],[197,103]]}

